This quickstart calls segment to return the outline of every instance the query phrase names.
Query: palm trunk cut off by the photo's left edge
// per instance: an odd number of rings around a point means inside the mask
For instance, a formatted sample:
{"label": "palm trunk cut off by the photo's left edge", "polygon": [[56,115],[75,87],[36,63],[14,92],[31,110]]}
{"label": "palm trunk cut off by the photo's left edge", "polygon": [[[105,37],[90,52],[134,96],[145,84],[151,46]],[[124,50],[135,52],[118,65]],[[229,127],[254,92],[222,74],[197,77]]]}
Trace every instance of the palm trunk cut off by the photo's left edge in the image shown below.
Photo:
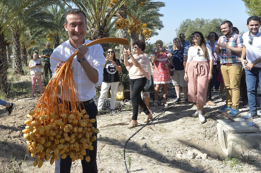
{"label": "palm trunk cut off by the photo's left edge", "polygon": [[[6,57],[6,47],[9,46],[9,44],[4,40],[4,35],[0,35],[0,61],[1,64],[7,60]],[[0,66],[0,90],[7,93],[9,84],[7,83],[7,74],[8,74],[8,61],[3,63],[2,66]]]}

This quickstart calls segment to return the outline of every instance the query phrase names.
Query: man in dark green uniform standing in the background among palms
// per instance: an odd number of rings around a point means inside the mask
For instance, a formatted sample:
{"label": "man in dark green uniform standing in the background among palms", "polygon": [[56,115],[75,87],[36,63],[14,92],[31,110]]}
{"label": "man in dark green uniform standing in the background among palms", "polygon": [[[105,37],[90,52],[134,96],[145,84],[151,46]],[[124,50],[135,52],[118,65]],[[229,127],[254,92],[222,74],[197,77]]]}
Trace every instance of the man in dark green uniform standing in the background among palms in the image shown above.
{"label": "man in dark green uniform standing in the background among palms", "polygon": [[[50,57],[52,55],[52,52],[54,52],[54,50],[50,48],[51,47],[50,43],[46,43],[45,47],[46,48],[43,49],[41,55]],[[48,57],[43,57],[44,58],[44,77],[46,79],[48,77],[48,70],[49,70],[50,76],[52,76],[50,58],[48,58]]]}

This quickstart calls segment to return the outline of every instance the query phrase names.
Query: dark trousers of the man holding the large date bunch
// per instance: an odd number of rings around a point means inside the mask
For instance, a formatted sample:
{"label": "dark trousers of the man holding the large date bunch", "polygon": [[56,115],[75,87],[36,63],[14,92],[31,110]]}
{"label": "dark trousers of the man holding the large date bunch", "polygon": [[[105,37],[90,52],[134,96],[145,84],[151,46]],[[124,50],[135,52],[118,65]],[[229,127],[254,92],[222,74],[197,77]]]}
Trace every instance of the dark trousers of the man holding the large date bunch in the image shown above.
{"label": "dark trousers of the man holding the large date bunch", "polygon": [[[69,110],[71,110],[70,108],[70,102],[68,103],[69,105]],[[84,106],[84,107],[83,107]],[[96,119],[96,115],[98,113],[98,109],[95,105],[94,102],[90,103],[90,104],[85,104],[85,102],[83,102],[83,105],[81,104],[81,109],[85,109],[86,113],[89,115],[89,118],[95,118]],[[94,128],[97,128],[97,121],[95,121],[94,123],[92,123],[92,126]],[[86,155],[89,154],[91,161],[87,162],[84,156],[84,159],[81,161],[82,164],[82,172],[83,173],[97,173],[98,169],[97,169],[97,163],[96,163],[96,156],[97,156],[97,133],[95,133],[96,136],[96,141],[92,142],[93,145],[93,150],[88,150],[86,149]],[[60,157],[59,161],[55,161],[55,165],[60,162],[60,171],[56,171],[55,168],[55,173],[60,172],[60,173],[70,173],[71,171],[71,166],[72,166],[72,159],[70,158],[70,155],[68,155],[65,159],[62,159]]]}

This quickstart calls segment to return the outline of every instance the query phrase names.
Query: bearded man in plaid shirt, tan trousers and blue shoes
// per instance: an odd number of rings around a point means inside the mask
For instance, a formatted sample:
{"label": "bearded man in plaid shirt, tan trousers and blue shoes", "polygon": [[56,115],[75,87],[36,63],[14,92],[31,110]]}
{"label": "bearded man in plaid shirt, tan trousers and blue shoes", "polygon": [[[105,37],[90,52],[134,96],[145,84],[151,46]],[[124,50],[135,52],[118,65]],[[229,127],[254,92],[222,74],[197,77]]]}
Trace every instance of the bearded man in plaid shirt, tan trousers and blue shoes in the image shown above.
{"label": "bearded man in plaid shirt, tan trousers and blue shoes", "polygon": [[240,78],[242,63],[240,61],[243,39],[239,34],[232,31],[233,24],[230,21],[221,23],[221,32],[224,36],[219,37],[215,52],[221,53],[221,74],[226,89],[226,105],[218,112],[229,112],[230,117],[239,114],[238,105],[240,97]]}

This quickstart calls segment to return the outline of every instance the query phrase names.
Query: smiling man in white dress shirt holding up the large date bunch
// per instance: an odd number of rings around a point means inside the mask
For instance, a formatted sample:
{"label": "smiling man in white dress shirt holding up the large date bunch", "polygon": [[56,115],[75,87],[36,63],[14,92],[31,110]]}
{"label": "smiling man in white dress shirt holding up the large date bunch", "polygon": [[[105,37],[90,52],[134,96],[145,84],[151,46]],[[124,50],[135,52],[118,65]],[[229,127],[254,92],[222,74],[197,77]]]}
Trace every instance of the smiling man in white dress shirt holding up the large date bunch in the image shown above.
{"label": "smiling man in white dress shirt holding up the large date bunch", "polygon": [[[74,52],[78,51],[78,55],[74,57],[72,62],[73,79],[83,102],[81,104],[82,109],[84,106],[89,118],[96,119],[98,110],[92,98],[95,95],[95,87],[102,83],[105,57],[101,45],[93,45],[89,48],[86,46],[87,43],[91,42],[84,37],[87,29],[86,23],[86,15],[83,11],[79,9],[68,10],[65,14],[64,28],[70,38],[55,48],[51,58],[66,61]],[[52,75],[63,65],[62,62],[54,59],[50,59],[50,63]],[[58,88],[60,87],[58,86]],[[97,122],[92,124],[94,128],[97,128]],[[97,137],[97,133],[95,133],[95,136]],[[85,156],[81,161],[83,172],[98,172],[96,163],[97,140],[93,141],[92,144],[93,150],[86,149],[91,161],[87,162]],[[60,155],[59,161],[55,160],[55,172],[69,173],[71,165],[72,159],[69,155],[65,159],[62,159]]]}

